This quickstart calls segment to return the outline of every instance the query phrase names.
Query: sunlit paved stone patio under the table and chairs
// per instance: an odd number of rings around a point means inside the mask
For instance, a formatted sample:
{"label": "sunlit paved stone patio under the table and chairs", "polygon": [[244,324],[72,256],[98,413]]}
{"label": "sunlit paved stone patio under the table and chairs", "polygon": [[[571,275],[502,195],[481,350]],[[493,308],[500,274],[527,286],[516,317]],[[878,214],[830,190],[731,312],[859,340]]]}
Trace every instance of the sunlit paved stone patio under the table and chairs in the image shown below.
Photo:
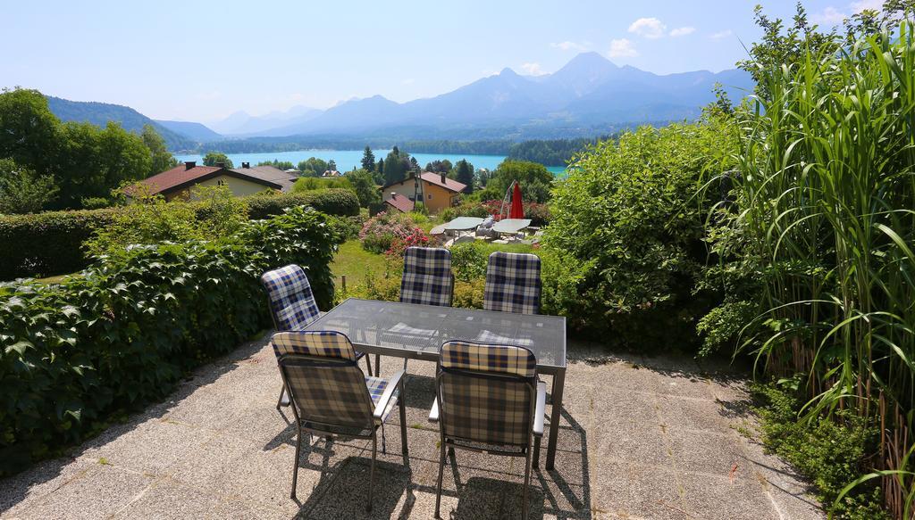
{"label": "sunlit paved stone patio under the table and chairs", "polygon": [[[533,472],[532,518],[824,517],[788,466],[738,433],[752,418],[745,381],[727,366],[574,343],[569,362],[556,469]],[[383,360],[382,375],[399,366]],[[438,433],[426,417],[434,369],[410,363],[410,464],[393,414],[371,515],[363,508],[367,440],[303,447],[300,502],[289,499],[294,428],[288,412],[274,409],[280,379],[263,339],[202,367],[166,402],[70,458],[0,480],[0,517],[431,518]],[[457,462],[445,473],[443,517],[520,517],[522,460],[458,451]]]}

